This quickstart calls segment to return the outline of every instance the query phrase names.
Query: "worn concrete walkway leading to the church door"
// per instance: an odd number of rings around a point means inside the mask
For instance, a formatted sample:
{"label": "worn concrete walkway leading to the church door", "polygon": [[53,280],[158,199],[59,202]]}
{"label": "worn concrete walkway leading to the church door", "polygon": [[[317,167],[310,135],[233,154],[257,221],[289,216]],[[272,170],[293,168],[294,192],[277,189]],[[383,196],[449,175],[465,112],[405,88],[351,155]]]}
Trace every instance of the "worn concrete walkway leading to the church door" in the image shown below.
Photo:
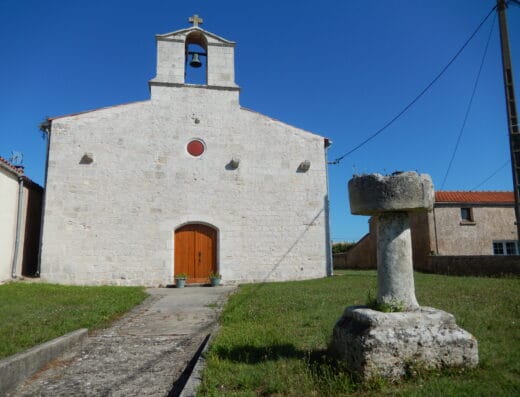
{"label": "worn concrete walkway leading to the church door", "polygon": [[9,396],[168,396],[235,287],[154,288]]}

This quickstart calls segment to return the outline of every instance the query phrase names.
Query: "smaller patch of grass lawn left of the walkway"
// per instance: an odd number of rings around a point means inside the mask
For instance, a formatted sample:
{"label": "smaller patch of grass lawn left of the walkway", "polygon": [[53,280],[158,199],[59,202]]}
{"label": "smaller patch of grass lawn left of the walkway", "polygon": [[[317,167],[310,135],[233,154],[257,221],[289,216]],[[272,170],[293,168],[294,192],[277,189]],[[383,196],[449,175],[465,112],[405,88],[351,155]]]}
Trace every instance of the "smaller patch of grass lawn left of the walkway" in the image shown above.
{"label": "smaller patch of grass lawn left of the walkway", "polygon": [[140,287],[0,285],[0,358],[79,328],[103,328],[145,297]]}

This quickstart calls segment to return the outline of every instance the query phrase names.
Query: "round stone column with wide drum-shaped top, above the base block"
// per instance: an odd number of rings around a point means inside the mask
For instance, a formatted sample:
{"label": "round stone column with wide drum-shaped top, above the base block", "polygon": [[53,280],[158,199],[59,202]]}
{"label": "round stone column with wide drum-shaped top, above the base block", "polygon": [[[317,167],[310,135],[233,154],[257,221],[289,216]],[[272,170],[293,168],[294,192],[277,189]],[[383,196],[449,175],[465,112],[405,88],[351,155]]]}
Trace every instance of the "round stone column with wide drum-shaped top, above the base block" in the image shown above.
{"label": "round stone column with wide drum-shaped top, above the base block", "polygon": [[418,310],[408,212],[433,208],[429,175],[400,172],[354,177],[348,184],[350,210],[377,218],[377,302]]}

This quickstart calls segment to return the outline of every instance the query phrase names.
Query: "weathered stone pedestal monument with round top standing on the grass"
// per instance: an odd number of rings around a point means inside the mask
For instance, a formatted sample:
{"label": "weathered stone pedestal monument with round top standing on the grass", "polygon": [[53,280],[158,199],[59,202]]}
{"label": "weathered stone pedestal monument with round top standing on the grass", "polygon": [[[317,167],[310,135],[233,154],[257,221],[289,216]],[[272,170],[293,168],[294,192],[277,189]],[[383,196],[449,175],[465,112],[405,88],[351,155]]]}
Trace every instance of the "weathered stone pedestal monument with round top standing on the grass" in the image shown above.
{"label": "weathered stone pedestal monument with round top standing on the grass", "polygon": [[351,212],[377,217],[377,306],[351,306],[334,327],[331,350],[360,380],[397,379],[412,368],[474,367],[477,340],[453,315],[415,297],[409,212],[433,208],[429,175],[354,176]]}

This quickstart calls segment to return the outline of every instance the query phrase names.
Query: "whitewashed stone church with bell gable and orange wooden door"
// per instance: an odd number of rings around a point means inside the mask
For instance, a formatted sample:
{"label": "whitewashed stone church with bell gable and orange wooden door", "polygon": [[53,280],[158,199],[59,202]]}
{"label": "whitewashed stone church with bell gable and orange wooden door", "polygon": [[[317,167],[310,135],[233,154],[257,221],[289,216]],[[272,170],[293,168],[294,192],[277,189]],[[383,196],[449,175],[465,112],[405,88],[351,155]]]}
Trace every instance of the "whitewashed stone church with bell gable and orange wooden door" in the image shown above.
{"label": "whitewashed stone church with bell gable and orange wooden door", "polygon": [[[331,274],[328,139],[240,106],[235,43],[156,36],[150,99],[46,121],[44,281],[164,286]],[[205,70],[204,84],[186,80]]]}

